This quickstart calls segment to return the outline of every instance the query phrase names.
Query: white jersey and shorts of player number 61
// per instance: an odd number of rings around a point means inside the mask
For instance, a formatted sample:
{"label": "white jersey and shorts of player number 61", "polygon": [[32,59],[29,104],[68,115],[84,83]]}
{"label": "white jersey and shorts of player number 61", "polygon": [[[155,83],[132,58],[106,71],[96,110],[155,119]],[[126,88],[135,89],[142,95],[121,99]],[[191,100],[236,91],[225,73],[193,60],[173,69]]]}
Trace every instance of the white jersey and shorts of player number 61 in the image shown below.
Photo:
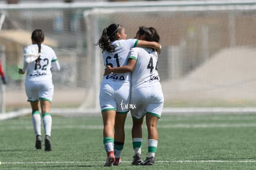
{"label": "white jersey and shorts of player number 61", "polygon": [[[120,67],[127,64],[130,48],[137,45],[138,40],[117,40],[112,44],[116,47],[114,53],[103,53],[104,66]],[[101,111],[115,110],[117,113],[127,113],[130,101],[130,73],[109,74],[103,76],[100,89]]]}

